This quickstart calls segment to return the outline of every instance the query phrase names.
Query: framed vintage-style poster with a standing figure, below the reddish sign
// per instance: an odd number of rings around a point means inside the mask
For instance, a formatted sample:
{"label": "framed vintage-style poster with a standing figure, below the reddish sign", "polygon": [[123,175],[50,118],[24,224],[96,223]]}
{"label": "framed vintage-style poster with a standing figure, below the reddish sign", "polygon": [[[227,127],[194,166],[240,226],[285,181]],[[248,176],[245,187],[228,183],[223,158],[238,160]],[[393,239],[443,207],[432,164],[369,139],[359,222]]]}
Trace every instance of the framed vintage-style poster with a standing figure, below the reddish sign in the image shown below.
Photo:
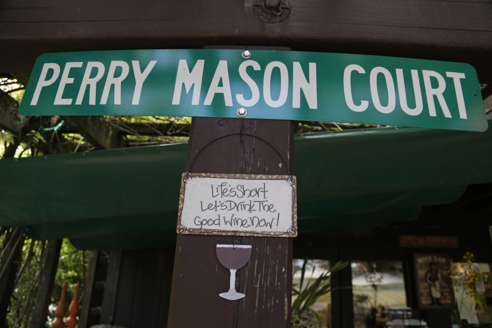
{"label": "framed vintage-style poster with a standing figure, below the reddish sign", "polygon": [[453,283],[446,254],[415,253],[415,277],[420,309],[454,306]]}

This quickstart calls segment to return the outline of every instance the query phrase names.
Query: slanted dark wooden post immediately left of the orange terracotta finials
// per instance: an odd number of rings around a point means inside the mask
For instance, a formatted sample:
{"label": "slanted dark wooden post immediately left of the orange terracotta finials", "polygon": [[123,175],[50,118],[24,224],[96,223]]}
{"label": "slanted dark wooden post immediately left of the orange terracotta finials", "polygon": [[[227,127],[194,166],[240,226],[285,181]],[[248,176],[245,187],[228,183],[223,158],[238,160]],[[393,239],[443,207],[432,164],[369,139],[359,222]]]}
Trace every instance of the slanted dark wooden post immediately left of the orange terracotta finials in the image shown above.
{"label": "slanted dark wooden post immediately left of the orange terracotta finials", "polygon": [[31,327],[42,327],[47,321],[48,305],[51,304],[51,292],[53,291],[62,241],[62,239],[48,241],[46,260],[39,277],[39,289],[31,317]]}

